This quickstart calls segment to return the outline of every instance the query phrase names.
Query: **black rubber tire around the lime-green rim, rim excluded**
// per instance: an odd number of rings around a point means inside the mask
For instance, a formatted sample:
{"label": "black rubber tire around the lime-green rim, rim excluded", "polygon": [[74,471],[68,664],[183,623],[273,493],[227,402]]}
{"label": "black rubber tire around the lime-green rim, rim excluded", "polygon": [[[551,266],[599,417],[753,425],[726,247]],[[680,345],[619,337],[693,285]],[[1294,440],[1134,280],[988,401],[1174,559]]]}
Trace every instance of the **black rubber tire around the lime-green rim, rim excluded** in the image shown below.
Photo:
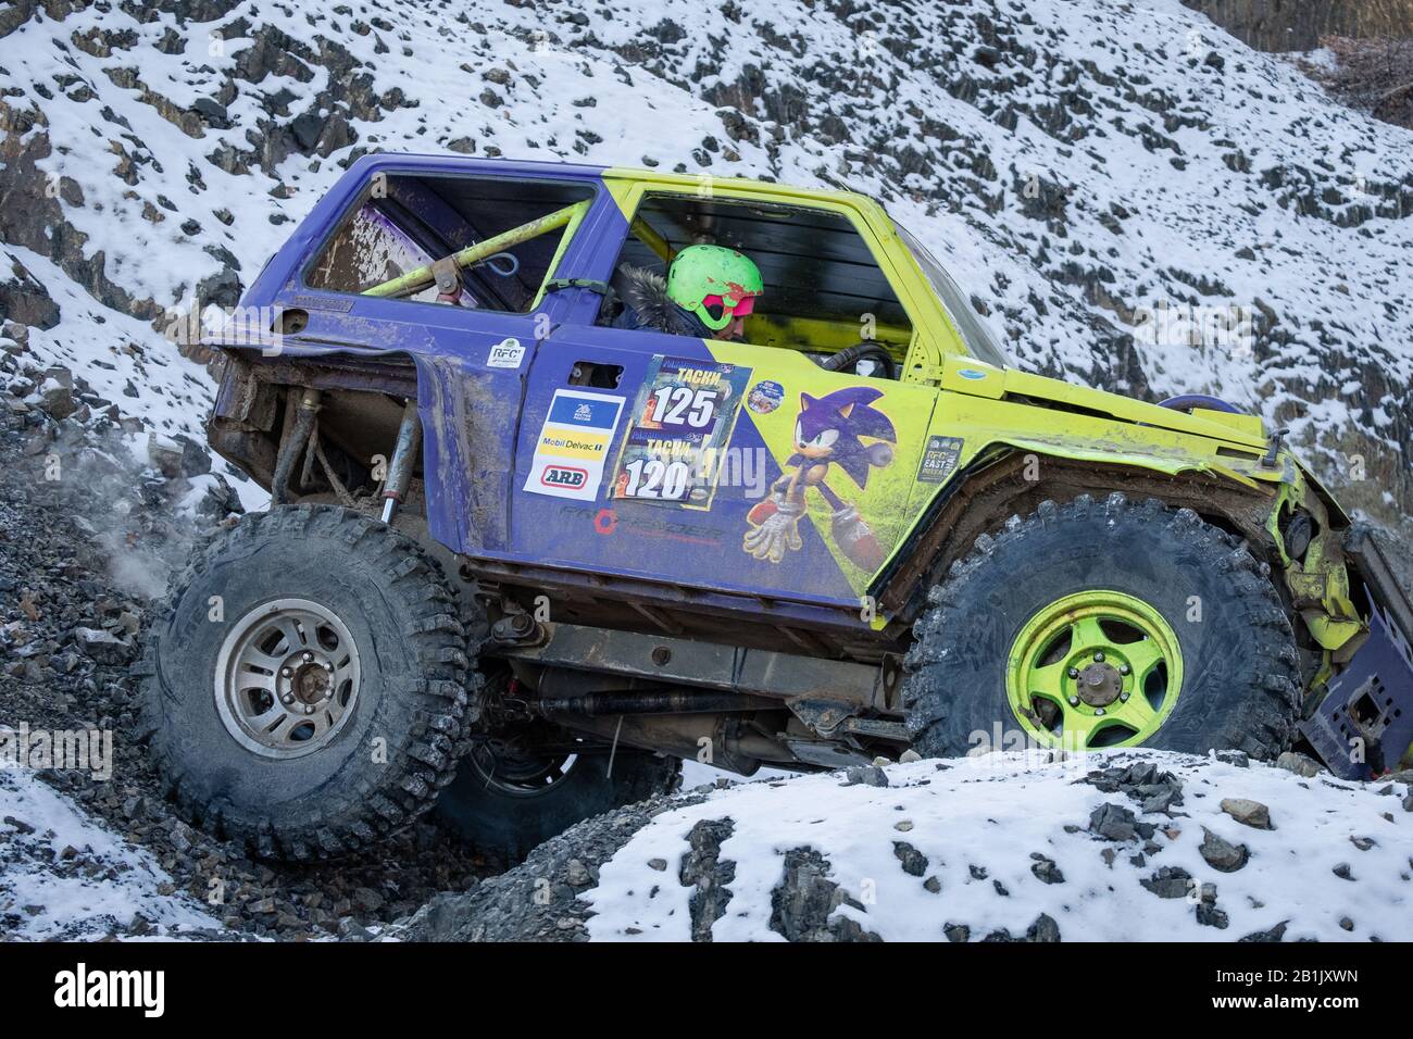
{"label": "black rubber tire around the lime-green rim, rim excluded", "polygon": [[[1092,589],[1147,602],[1177,635],[1183,686],[1145,746],[1241,749],[1258,759],[1289,749],[1299,657],[1269,567],[1190,509],[1153,499],[1136,505],[1122,495],[1102,503],[1088,495],[1064,506],[1041,502],[1026,519],[1012,516],[930,591],[904,659],[914,749],[964,756],[988,745],[998,724],[1019,731],[1006,698],[1017,633],[1048,604]],[[1201,622],[1187,619],[1193,595],[1202,604]]]}

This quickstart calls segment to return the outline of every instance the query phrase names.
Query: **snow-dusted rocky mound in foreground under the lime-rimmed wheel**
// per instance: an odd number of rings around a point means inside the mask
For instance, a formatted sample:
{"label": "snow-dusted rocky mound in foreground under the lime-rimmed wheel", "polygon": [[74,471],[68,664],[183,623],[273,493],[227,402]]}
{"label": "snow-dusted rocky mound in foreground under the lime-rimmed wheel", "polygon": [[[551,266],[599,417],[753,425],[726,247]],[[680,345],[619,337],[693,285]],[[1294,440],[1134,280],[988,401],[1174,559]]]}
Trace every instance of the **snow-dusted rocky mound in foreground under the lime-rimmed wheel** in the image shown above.
{"label": "snow-dusted rocky mound in foreground under the lime-rimmed wheel", "polygon": [[581,823],[400,940],[1396,941],[1413,773],[988,755],[725,785]]}

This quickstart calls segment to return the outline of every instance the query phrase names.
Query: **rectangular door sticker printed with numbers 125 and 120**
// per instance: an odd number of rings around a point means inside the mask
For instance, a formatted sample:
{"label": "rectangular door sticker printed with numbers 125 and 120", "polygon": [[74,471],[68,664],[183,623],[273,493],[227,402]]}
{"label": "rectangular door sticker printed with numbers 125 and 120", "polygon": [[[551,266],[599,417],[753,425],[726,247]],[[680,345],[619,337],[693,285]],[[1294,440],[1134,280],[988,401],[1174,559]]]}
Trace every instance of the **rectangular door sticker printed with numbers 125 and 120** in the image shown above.
{"label": "rectangular door sticker printed with numbers 125 and 120", "polygon": [[709,509],[750,369],[653,358],[613,472],[613,498]]}

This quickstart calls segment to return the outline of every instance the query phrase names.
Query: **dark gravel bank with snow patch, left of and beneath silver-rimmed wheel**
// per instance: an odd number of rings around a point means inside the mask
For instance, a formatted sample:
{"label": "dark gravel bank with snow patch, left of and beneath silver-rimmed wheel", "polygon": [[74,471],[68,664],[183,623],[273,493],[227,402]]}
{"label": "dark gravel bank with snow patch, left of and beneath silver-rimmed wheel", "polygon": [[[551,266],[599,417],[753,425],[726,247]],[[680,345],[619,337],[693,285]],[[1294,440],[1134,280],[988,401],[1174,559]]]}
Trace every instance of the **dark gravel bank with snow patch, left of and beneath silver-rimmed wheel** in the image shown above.
{"label": "dark gravel bank with snow patch, left of and beneath silver-rimmed wheel", "polygon": [[[32,369],[17,346],[0,338],[0,356]],[[493,872],[435,820],[376,855],[283,867],[172,814],[136,643],[151,592],[240,505],[195,442],[134,437],[62,369],[35,379],[30,403],[0,393],[0,940],[357,934]],[[90,729],[110,739],[106,768],[51,766],[40,744],[14,768],[23,731]]]}

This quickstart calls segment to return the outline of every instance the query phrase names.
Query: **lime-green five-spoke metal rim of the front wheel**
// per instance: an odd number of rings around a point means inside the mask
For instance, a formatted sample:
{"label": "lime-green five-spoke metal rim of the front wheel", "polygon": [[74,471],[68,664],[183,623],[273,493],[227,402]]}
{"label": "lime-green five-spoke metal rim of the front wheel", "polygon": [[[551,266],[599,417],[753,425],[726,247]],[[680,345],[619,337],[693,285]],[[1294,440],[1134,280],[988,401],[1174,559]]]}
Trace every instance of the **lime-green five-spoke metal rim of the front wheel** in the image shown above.
{"label": "lime-green five-spoke metal rim of the front wheel", "polygon": [[1065,595],[1010,646],[1006,700],[1041,746],[1137,746],[1183,688],[1183,652],[1153,606],[1115,591]]}

